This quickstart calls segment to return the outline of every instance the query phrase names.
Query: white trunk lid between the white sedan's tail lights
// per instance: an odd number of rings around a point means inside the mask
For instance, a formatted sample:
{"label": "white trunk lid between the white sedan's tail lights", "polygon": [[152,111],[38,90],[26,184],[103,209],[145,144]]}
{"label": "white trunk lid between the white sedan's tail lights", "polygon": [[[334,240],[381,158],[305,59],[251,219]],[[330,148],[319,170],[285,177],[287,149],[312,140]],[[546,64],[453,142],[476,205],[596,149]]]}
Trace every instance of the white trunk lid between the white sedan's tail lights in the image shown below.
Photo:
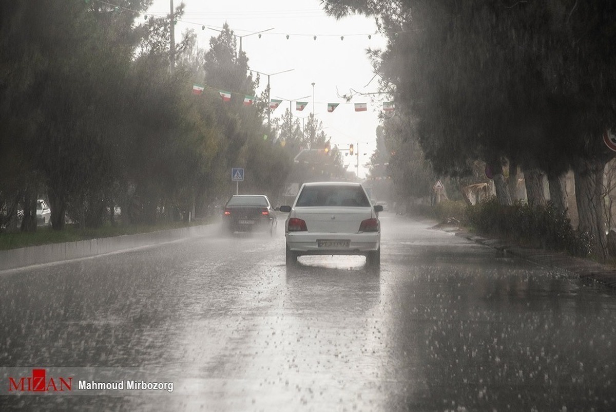
{"label": "white trunk lid between the white sedan's tail lights", "polygon": [[371,218],[371,208],[296,207],[295,217],[306,221],[309,232],[357,233],[362,220]]}

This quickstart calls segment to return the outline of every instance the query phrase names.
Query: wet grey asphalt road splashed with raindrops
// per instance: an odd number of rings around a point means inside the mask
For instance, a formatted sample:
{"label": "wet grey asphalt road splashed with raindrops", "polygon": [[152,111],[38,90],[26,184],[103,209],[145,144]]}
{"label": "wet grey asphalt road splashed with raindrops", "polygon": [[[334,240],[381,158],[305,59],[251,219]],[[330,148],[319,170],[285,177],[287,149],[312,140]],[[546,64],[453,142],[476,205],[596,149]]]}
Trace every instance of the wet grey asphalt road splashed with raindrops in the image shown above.
{"label": "wet grey asphalt road splashed with raindrops", "polygon": [[616,410],[613,290],[428,221],[381,222],[376,272],[362,257],[287,270],[280,228],[213,227],[0,273],[0,367],[175,379],[172,393],[0,396],[0,410]]}

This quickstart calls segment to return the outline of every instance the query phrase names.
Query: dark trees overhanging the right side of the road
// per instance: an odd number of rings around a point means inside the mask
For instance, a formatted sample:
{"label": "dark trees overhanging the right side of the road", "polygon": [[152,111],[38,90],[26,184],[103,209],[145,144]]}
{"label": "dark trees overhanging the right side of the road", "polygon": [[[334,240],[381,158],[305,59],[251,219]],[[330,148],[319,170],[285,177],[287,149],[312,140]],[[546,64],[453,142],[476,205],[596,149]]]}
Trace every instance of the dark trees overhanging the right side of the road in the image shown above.
{"label": "dark trees overhanging the right side of the road", "polygon": [[606,257],[602,182],[614,152],[602,136],[616,130],[615,2],[324,3],[336,17],[377,18],[388,43],[371,51],[376,70],[436,173],[466,176],[482,160],[509,205],[503,167],[510,180],[521,168],[530,204],[545,204],[547,176],[551,202],[564,210],[562,177],[572,170],[579,229]]}

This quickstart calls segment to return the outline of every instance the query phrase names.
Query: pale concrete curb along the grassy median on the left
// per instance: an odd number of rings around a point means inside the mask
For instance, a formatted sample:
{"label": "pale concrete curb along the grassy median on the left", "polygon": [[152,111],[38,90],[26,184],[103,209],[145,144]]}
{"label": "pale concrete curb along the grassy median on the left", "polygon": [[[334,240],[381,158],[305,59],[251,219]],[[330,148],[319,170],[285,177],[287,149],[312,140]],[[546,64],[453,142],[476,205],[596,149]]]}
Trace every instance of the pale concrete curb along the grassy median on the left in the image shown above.
{"label": "pale concrete curb along the grassy median on the left", "polygon": [[63,260],[93,257],[136,247],[163,244],[187,237],[200,236],[211,226],[213,225],[189,226],[187,228],[168,229],[150,233],[127,234],[89,239],[87,241],[0,250],[0,270],[23,268],[42,263],[62,262]]}

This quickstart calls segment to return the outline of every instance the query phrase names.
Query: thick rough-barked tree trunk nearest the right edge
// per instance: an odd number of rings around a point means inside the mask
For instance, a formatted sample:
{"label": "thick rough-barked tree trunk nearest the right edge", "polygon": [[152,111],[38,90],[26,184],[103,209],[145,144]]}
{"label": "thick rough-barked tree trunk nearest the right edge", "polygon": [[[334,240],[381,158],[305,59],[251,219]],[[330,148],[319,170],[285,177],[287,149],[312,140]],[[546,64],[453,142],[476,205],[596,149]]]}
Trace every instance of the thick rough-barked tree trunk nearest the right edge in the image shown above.
{"label": "thick rough-barked tree trunk nearest the right edge", "polygon": [[605,262],[607,258],[605,205],[602,197],[605,166],[606,162],[602,160],[580,161],[573,170],[578,229],[593,235],[593,251],[601,262]]}

